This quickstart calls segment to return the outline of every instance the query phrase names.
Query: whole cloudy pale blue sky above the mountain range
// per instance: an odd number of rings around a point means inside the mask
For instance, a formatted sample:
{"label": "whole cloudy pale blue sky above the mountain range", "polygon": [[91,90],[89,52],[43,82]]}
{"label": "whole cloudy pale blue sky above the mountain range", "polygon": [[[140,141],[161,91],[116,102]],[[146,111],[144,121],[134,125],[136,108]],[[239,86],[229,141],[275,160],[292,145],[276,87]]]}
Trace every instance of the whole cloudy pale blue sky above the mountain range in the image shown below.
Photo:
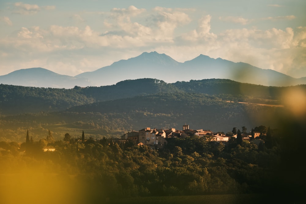
{"label": "whole cloudy pale blue sky above the mountain range", "polygon": [[76,76],[143,52],[306,76],[305,0],[0,1],[0,75]]}

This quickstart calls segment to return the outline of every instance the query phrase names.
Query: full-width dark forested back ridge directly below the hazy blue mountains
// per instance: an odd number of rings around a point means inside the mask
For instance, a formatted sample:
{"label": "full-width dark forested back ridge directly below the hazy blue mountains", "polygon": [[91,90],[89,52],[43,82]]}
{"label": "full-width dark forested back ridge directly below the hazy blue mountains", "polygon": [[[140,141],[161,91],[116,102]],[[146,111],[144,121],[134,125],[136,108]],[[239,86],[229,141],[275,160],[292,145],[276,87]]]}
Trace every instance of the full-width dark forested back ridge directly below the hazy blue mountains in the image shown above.
{"label": "full-width dark forested back ridge directly below the hazy blue mountains", "polygon": [[[306,85],[296,86],[303,91]],[[93,102],[130,98],[158,93],[203,93],[222,100],[273,103],[279,102],[287,89],[294,87],[265,87],[224,79],[191,80],[166,83],[156,79],[125,80],[111,86],[74,87],[73,89],[22,87],[0,85],[2,115],[61,111]],[[267,101],[270,100],[270,101]]]}

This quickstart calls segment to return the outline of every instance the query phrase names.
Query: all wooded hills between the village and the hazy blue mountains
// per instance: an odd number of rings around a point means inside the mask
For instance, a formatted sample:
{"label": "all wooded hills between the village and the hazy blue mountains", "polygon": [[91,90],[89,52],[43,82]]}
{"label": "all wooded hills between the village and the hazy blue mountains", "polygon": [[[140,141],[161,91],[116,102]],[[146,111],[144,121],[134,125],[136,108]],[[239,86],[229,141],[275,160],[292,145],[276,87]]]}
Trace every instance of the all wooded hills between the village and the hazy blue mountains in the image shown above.
{"label": "all wooded hills between the village and the hazy blue mountains", "polygon": [[290,93],[306,95],[305,87],[264,87],[219,79],[173,84],[139,79],[73,89],[1,84],[0,138],[23,142],[27,129],[35,140],[45,137],[49,129],[56,139],[67,132],[79,137],[82,130],[95,138],[119,137],[144,127],[182,129],[185,123],[192,129],[224,133],[242,126],[248,131],[259,125],[274,128],[284,114],[291,114],[288,98],[304,107],[304,100]]}

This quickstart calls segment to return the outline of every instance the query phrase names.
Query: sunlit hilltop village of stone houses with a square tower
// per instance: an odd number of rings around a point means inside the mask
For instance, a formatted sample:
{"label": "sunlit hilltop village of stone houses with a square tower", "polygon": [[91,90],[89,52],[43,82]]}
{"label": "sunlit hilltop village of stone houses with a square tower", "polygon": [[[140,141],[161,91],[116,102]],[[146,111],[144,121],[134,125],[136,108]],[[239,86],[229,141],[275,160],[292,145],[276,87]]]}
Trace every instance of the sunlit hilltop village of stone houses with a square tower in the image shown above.
{"label": "sunlit hilltop village of stone houses with a square tower", "polygon": [[[252,138],[253,134],[253,138]],[[156,128],[144,128],[137,131],[131,131],[128,133],[125,133],[121,136],[121,139],[119,139],[119,143],[125,143],[128,140],[133,141],[138,146],[141,145],[149,145],[152,149],[157,148],[163,148],[167,144],[168,138],[186,138],[189,136],[199,136],[199,137],[211,137],[212,141],[222,142],[225,143],[229,141],[230,137],[237,138],[237,134],[233,134],[232,136],[227,136],[224,133],[215,133],[210,130],[192,130],[189,128],[188,124],[183,125],[183,130],[177,130],[175,128],[170,129],[156,129]],[[264,143],[262,139],[258,139],[260,137],[260,132],[250,132],[241,134],[243,140],[250,141],[252,139],[252,142],[255,143],[257,146],[260,142]]]}

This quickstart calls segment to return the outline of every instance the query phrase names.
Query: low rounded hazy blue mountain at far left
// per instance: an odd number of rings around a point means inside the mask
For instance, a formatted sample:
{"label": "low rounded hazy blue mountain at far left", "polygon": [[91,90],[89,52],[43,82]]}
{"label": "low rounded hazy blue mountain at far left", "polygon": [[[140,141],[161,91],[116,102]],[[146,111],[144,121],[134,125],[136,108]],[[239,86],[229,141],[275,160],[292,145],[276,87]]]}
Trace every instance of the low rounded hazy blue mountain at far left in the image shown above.
{"label": "low rounded hazy blue mountain at far left", "polygon": [[0,76],[0,83],[30,87],[73,88],[92,86],[88,79],[60,75],[43,68],[20,69]]}

